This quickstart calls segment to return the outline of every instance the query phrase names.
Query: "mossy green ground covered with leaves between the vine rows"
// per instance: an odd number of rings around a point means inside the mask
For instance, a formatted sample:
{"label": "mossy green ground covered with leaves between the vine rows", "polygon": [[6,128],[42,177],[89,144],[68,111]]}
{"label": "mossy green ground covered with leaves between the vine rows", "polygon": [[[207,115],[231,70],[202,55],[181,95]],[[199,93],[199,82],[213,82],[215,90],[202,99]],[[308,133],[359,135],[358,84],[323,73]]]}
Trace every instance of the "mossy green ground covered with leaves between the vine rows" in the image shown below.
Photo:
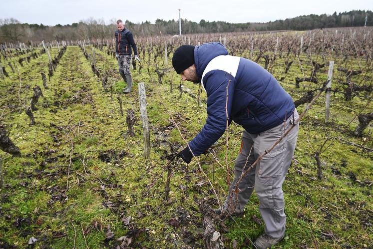
{"label": "mossy green ground covered with leaves between the vine rows", "polygon": [[[57,52],[52,49],[52,54]],[[116,70],[113,57],[98,49],[95,53],[97,68]],[[40,77],[40,71],[47,72],[46,54],[19,66],[21,81],[17,71],[7,70],[10,77],[0,84],[1,122],[22,156],[15,158],[0,152],[4,172],[0,189],[0,247],[26,248],[33,237],[37,241],[28,247],[115,248],[123,242],[118,239],[126,236],[131,243],[122,245],[133,248],[203,248],[198,205],[203,199],[217,205],[212,187],[195,160],[189,165],[176,160],[171,164],[169,197],[164,200],[164,167],[166,155],[185,147],[182,136],[189,141],[202,128],[207,97],[202,92],[198,106],[193,97],[198,94],[198,86],[189,82],[182,84],[191,89],[193,96],[186,92],[180,96],[180,76],[173,70],[159,84],[154,66],[150,78],[146,61],[142,58],[141,73],[132,70],[135,83],[127,95],[120,93],[125,84],[119,75],[109,79],[113,93],[105,92],[77,46],[67,47],[47,82],[48,89],[42,87]],[[308,76],[311,68],[306,61],[307,57],[301,56],[300,63]],[[342,59],[336,58],[338,63]],[[349,63],[358,69],[357,61]],[[264,60],[260,64],[264,65]],[[303,77],[297,61],[287,74],[284,71],[284,58],[279,58],[271,72],[281,79],[281,85],[293,99],[317,87],[301,82],[301,88],[295,88],[295,77]],[[320,82],[327,79],[327,73],[328,67],[321,69]],[[368,82],[372,82],[371,74],[368,72]],[[333,82],[343,82],[343,77],[335,70]],[[363,80],[366,76],[353,77]],[[152,147],[149,159],[143,156],[138,82],[145,82],[147,91]],[[22,105],[28,105],[35,85],[42,88],[43,97],[34,111],[36,124],[30,126]],[[124,116],[116,96],[123,102]],[[298,111],[304,108],[302,105]],[[138,119],[134,137],[127,133],[127,109],[135,110]],[[287,232],[276,248],[372,247],[372,153],[341,143],[346,140],[373,147],[372,127],[361,138],[353,136],[358,125],[356,114],[369,110],[372,104],[367,98],[354,97],[347,102],[337,92],[332,94],[331,122],[326,124],[322,94],[301,120],[293,164],[283,187]],[[241,133],[238,125],[230,126],[231,168],[239,151]],[[324,175],[319,180],[313,155],[331,137],[340,139],[329,140],[324,147]],[[225,136],[218,143],[224,139]],[[199,158],[220,202],[227,190],[225,151],[225,146],[221,146],[213,150],[213,155]],[[252,248],[251,241],[263,233],[263,222],[259,225],[252,218],[260,218],[258,205],[253,195],[242,218],[219,225],[227,248]]]}

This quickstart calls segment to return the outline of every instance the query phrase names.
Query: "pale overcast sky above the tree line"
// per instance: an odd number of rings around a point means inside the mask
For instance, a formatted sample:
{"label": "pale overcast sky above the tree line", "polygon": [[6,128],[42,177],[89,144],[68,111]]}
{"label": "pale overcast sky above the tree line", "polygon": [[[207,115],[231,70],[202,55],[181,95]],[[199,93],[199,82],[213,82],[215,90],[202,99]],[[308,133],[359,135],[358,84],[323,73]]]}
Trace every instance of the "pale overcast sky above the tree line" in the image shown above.
{"label": "pale overcast sky above the tree line", "polygon": [[267,22],[305,14],[373,10],[373,0],[1,0],[0,18],[44,25],[71,24],[93,17],[152,23],[157,18],[199,22]]}

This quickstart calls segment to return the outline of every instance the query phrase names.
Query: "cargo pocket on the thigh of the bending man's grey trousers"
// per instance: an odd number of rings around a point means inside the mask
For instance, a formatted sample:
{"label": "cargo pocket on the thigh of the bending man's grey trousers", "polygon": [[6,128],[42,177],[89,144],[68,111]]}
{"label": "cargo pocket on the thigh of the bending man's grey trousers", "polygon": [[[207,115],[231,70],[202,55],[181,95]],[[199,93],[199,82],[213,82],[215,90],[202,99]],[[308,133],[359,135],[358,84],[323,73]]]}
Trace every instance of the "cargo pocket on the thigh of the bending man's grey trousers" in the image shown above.
{"label": "cargo pocket on the thigh of the bending man's grey trousers", "polygon": [[262,178],[279,177],[284,166],[285,147],[275,148],[266,154],[259,162],[258,176]]}

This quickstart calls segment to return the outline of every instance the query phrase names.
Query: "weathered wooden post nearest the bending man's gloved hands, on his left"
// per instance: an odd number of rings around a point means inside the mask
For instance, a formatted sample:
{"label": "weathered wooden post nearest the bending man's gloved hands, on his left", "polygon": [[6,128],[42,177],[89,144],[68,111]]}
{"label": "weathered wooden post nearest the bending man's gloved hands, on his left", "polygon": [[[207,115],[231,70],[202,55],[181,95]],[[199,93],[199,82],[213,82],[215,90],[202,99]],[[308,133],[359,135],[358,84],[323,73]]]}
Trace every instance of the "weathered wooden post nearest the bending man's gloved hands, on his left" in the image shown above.
{"label": "weathered wooden post nearest the bending man's gloved hands, on his left", "polygon": [[146,111],[146,94],[145,94],[145,83],[144,82],[139,83],[139,101],[140,101],[142,128],[144,130],[144,157],[149,158],[150,156],[150,133],[149,133],[148,113]]}

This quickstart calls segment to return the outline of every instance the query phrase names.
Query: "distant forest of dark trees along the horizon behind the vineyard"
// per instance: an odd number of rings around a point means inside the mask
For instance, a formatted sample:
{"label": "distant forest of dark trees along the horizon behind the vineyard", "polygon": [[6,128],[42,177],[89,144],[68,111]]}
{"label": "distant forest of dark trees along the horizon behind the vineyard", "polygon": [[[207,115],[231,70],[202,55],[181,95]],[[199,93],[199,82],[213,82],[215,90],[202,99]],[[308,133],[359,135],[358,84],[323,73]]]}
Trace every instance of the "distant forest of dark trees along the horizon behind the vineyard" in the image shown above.
{"label": "distant forest of dark trees along the horizon behind the vineyard", "polygon": [[[190,33],[223,33],[245,31],[270,31],[270,30],[309,30],[328,27],[364,26],[367,17],[367,26],[373,25],[373,12],[371,10],[352,10],[332,15],[310,14],[285,20],[276,20],[264,23],[229,23],[226,21],[200,22],[181,19],[182,34]],[[135,36],[140,35],[174,35],[179,33],[178,20],[157,19],[155,23],[145,21],[133,23],[126,20],[126,27]],[[115,21],[107,24],[102,19],[89,18],[79,23],[67,25],[57,24],[47,26],[40,24],[20,23],[14,18],[0,19],[0,43],[51,40],[76,40],[76,39],[110,39],[116,28]]]}

